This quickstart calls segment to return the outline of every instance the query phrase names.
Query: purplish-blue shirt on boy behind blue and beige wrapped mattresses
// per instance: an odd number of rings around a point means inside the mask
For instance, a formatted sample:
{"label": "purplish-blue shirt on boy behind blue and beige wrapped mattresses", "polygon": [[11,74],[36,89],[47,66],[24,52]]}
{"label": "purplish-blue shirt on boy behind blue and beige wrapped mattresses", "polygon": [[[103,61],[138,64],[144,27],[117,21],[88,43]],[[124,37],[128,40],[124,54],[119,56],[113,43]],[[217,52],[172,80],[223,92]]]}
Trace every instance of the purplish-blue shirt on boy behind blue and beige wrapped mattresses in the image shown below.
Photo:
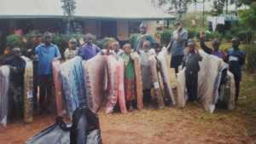
{"label": "purplish-blue shirt on boy behind blue and beige wrapped mattresses", "polygon": [[81,56],[83,60],[90,60],[99,52],[102,55],[104,55],[104,53],[102,52],[102,49],[97,47],[94,43],[92,43],[91,46],[85,43],[82,47],[79,48],[78,55]]}

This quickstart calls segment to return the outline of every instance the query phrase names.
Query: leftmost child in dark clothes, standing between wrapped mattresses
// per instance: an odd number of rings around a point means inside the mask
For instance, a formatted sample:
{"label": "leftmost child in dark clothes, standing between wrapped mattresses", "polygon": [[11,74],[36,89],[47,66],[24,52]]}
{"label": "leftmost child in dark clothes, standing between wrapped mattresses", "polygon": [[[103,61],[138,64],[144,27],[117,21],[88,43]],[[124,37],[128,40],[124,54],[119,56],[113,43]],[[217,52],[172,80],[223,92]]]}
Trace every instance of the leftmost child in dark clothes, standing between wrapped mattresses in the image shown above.
{"label": "leftmost child in dark clothes, standing between wrapped mattresses", "polygon": [[[20,48],[12,49],[13,56],[4,60],[2,65],[9,66],[9,118],[14,117],[15,112],[21,114],[23,105],[23,86],[26,61],[21,58]],[[15,112],[14,112],[15,111]]]}

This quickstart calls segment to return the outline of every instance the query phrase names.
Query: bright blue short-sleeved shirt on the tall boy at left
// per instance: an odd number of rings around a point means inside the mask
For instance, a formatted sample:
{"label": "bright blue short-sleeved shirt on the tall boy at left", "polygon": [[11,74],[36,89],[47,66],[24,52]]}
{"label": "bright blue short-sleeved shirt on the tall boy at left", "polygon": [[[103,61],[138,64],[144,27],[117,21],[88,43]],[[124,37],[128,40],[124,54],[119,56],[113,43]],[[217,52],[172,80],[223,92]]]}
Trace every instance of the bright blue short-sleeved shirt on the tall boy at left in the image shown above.
{"label": "bright blue short-sleeved shirt on the tall boy at left", "polygon": [[52,43],[47,48],[43,43],[38,45],[35,53],[38,54],[38,75],[52,74],[51,62],[55,57],[61,56],[59,48]]}

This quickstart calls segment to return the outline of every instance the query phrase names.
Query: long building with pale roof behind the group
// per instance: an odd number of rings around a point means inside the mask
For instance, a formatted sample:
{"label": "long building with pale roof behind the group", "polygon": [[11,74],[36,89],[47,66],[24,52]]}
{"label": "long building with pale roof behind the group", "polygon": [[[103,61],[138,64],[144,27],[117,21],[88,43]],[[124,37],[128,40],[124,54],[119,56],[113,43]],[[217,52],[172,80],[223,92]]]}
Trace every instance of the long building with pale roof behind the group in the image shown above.
{"label": "long building with pale roof behind the group", "polygon": [[[175,20],[170,14],[155,9],[148,0],[75,0],[74,21],[82,33],[97,38],[115,37],[127,41],[139,33],[139,24],[148,23],[148,34],[154,35],[157,20]],[[24,33],[36,29],[40,32],[66,32],[62,22],[61,0],[1,0],[0,35],[3,39],[15,28]],[[71,23],[71,28],[73,24]]]}

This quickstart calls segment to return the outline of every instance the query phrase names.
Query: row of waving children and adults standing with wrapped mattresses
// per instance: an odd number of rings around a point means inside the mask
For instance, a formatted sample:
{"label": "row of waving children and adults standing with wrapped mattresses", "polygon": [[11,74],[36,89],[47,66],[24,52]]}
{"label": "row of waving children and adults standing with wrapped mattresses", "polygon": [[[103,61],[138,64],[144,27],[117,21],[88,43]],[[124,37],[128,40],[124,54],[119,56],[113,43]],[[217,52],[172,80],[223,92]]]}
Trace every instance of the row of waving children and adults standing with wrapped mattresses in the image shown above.
{"label": "row of waving children and adults standing with wrapped mattresses", "polygon": [[[178,66],[185,67],[186,73],[186,87],[189,95],[189,101],[197,101],[197,79],[198,72],[200,71],[199,62],[203,59],[198,49],[195,49],[195,42],[193,39],[188,39],[188,32],[183,30],[183,21],[177,20],[177,30],[172,32],[171,41],[167,46],[167,49],[171,49],[172,60],[171,67],[175,69],[175,73],[178,72]],[[65,50],[66,60],[72,59],[78,55],[83,60],[90,60],[96,55],[113,55],[116,59],[125,60],[125,100],[129,105],[129,110],[134,109],[134,102],[137,100],[137,84],[134,66],[134,53],[137,52],[141,58],[141,73],[143,80],[143,102],[149,103],[151,100],[151,72],[148,57],[156,55],[154,51],[150,49],[156,49],[156,43],[154,38],[147,34],[148,25],[147,23],[141,23],[140,31],[141,36],[137,37],[135,47],[131,48],[130,43],[125,43],[123,49],[120,49],[119,42],[108,43],[107,51],[103,51],[96,44],[92,43],[92,34],[88,33],[85,35],[85,42],[78,41],[75,38],[71,38],[68,41],[68,47]],[[235,76],[236,81],[236,101],[238,100],[239,88],[241,82],[241,66],[245,62],[245,54],[239,49],[240,39],[234,37],[232,39],[232,49],[228,50],[227,55],[219,50],[220,42],[218,39],[212,40],[212,47],[210,49],[203,41],[204,32],[201,32],[201,48],[209,55],[215,55],[229,64],[230,72]],[[37,86],[39,86],[39,105],[40,112],[49,112],[49,103],[52,97],[52,86],[54,86],[53,72],[52,72],[52,61],[61,60],[61,53],[58,47],[52,43],[52,35],[50,32],[44,32],[44,43],[41,43],[40,37],[35,37],[34,44],[32,47],[32,60],[34,66],[38,65],[38,70],[34,72],[34,89],[33,98],[34,103],[37,105]],[[188,47],[186,47],[188,43]],[[113,48],[113,49],[111,49]],[[157,52],[157,50],[156,50]],[[2,65],[10,67],[12,76],[11,78],[15,82],[15,88],[22,86],[22,81],[17,79],[23,79],[25,72],[26,61],[20,58],[21,51],[19,48],[13,49],[14,56],[7,60],[4,60]],[[38,62],[38,63],[37,63]],[[18,77],[18,78],[16,78]],[[173,87],[172,89],[176,89]],[[22,94],[22,93],[21,93]],[[47,95],[47,96],[46,96]],[[47,97],[45,102],[45,96]],[[20,98],[22,99],[22,98]],[[11,100],[11,99],[10,99]]]}

